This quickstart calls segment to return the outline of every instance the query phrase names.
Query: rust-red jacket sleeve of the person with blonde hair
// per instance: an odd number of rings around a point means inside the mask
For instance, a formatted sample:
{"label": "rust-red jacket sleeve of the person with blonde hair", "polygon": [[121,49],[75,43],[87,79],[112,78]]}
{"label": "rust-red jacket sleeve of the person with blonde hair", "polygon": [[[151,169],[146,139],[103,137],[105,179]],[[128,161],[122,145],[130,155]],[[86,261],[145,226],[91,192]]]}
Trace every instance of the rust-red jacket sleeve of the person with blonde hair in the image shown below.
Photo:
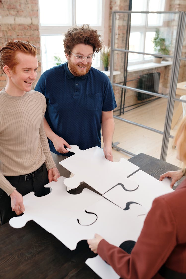
{"label": "rust-red jacket sleeve of the person with blonde hair", "polygon": [[131,252],[109,244],[102,239],[98,254],[125,279],[150,279],[165,263],[176,245],[176,223],[166,201],[153,201],[141,234]]}

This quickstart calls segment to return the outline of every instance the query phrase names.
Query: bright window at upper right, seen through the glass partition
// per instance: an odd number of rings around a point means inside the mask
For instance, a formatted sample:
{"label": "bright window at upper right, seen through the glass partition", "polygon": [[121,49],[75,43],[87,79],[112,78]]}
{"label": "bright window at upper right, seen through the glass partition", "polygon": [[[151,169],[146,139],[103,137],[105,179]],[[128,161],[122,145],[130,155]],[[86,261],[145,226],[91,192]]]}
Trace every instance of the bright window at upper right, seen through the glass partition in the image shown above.
{"label": "bright window at upper right, seen through the glass partition", "polygon": [[[132,0],[132,11],[164,11],[165,0]],[[133,13],[131,15],[131,32],[129,50],[136,52],[154,53],[152,39],[156,29],[163,27],[166,16],[163,14]],[[165,31],[165,30],[164,30]],[[138,42],[138,44],[136,44]],[[129,63],[149,62],[152,56],[129,52]]]}

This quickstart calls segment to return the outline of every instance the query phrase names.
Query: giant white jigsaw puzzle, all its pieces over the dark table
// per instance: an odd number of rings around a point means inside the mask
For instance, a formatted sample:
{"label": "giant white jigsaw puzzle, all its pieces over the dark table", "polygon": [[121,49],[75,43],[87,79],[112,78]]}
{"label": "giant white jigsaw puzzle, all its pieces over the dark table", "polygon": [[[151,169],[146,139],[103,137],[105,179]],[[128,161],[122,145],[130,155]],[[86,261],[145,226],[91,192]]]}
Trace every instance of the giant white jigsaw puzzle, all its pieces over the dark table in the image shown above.
{"label": "giant white jigsaw puzzle, all its pieces over the dark table", "polygon": [[[45,187],[52,188],[47,196],[36,197],[33,192],[24,196],[25,212],[12,218],[10,225],[20,228],[34,220],[71,250],[80,240],[93,238],[95,232],[116,246],[125,240],[136,241],[153,199],[173,191],[170,181],[160,182],[125,159],[110,162],[99,147],[82,151],[72,146],[70,151],[75,155],[61,165],[74,177],[61,176],[57,182],[47,184]],[[66,191],[82,181],[103,196],[89,189],[76,195]],[[109,279],[119,278],[99,256],[87,259],[86,264],[103,279],[108,279],[108,274]]]}

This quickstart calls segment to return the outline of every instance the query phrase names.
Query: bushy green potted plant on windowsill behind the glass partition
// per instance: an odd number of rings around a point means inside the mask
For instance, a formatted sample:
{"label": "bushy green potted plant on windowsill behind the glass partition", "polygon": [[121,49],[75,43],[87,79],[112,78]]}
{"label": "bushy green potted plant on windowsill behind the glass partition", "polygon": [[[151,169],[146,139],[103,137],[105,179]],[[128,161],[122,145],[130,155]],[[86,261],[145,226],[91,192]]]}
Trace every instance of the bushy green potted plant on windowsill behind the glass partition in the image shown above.
{"label": "bushy green potted plant on windowsill behind the glass partition", "polygon": [[[169,55],[169,46],[166,44],[165,42],[165,38],[161,38],[160,36],[160,30],[156,29],[156,33],[154,38],[152,39],[152,42],[154,44],[154,53],[156,54],[165,54],[165,55]],[[162,56],[154,56],[153,57],[153,62],[154,63],[161,63],[162,61]]]}

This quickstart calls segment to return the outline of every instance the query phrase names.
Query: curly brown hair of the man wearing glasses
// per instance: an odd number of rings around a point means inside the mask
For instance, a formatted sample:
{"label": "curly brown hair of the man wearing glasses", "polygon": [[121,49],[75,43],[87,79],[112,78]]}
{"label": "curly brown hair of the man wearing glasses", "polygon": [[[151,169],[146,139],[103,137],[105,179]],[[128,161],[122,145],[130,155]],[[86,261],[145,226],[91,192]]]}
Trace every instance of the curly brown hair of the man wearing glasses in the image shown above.
{"label": "curly brown hair of the man wearing glasses", "polygon": [[83,24],[81,27],[72,27],[64,35],[63,42],[66,54],[70,54],[70,51],[77,44],[91,45],[93,53],[99,52],[102,49],[103,40],[100,39],[101,35],[98,34],[96,29],[91,29],[89,24]]}

